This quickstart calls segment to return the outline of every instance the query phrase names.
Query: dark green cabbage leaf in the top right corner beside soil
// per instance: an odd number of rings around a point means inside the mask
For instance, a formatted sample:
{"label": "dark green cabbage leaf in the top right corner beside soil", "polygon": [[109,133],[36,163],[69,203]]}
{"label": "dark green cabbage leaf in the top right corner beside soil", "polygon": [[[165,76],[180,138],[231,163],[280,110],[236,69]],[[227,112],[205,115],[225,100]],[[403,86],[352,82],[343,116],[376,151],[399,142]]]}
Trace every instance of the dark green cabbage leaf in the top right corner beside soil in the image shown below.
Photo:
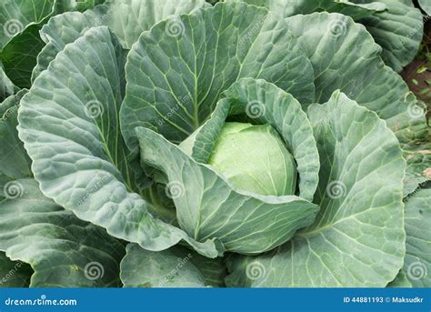
{"label": "dark green cabbage leaf in the top right corner beside soil", "polygon": [[[372,4],[373,0],[351,0],[357,4]],[[359,23],[383,47],[385,63],[396,72],[415,58],[424,35],[424,22],[413,1],[379,0],[387,6],[385,12],[367,16]]]}

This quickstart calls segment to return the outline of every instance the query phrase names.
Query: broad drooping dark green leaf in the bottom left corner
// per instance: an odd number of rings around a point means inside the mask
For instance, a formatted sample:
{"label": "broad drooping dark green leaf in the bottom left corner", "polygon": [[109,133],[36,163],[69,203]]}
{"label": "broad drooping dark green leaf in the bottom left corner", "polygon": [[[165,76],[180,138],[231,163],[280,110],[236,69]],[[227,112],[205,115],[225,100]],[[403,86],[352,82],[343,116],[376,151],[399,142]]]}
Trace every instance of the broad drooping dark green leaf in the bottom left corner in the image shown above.
{"label": "broad drooping dark green leaf in the bottom left corner", "polygon": [[[13,188],[14,187],[14,188]],[[0,250],[35,270],[30,287],[116,287],[124,247],[18,179],[0,201]]]}

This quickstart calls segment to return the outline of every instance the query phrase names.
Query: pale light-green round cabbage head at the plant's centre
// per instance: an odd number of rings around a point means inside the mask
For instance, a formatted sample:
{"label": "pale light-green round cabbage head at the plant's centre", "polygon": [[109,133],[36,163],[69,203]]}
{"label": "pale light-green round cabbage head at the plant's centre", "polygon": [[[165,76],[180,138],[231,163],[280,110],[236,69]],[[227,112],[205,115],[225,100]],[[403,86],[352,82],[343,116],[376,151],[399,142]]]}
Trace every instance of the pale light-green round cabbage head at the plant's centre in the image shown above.
{"label": "pale light-green round cabbage head at the plant's centre", "polygon": [[226,123],[208,164],[237,188],[262,195],[295,193],[294,158],[272,126]]}

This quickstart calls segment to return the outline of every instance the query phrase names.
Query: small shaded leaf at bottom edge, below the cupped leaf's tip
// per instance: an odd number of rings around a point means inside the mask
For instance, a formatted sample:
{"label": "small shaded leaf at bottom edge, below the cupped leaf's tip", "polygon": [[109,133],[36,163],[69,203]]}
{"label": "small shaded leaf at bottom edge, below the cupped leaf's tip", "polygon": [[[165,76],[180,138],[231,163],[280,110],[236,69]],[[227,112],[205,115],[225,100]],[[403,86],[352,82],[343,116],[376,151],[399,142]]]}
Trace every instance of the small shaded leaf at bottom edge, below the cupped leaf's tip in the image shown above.
{"label": "small shaded leaf at bottom edge, below the cupped leaf's tip", "polygon": [[226,267],[223,259],[208,259],[184,247],[160,252],[129,244],[121,262],[125,287],[220,287]]}

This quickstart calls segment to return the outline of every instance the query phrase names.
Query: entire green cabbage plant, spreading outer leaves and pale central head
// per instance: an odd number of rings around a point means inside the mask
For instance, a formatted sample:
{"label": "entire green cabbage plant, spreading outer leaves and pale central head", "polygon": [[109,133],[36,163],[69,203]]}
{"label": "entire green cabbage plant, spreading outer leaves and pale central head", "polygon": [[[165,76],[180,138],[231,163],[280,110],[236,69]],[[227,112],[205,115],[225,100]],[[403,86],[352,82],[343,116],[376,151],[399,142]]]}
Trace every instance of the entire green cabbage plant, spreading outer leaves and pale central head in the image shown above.
{"label": "entire green cabbage plant, spreading outer leaves and pale central head", "polygon": [[0,285],[431,285],[426,106],[390,49],[422,28],[246,2],[3,7]]}

